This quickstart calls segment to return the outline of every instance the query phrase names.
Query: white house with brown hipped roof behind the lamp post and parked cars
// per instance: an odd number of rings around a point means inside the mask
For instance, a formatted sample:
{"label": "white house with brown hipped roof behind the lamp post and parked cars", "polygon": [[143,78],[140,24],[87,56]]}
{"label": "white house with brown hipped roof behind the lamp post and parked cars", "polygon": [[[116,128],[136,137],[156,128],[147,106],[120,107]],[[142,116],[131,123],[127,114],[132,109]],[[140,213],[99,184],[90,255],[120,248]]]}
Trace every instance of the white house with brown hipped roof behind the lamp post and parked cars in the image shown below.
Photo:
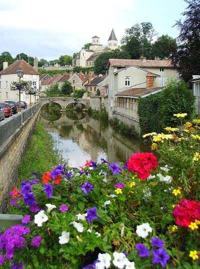
{"label": "white house with brown hipped roof behind the lamp post and parked cars", "polygon": [[[18,68],[21,68],[23,70],[23,76],[21,80],[32,81],[32,87],[36,86],[36,89],[39,89],[39,73],[23,59],[16,60],[9,66],[7,66],[7,62],[4,62],[3,70],[0,71],[0,101],[18,101],[18,91],[10,90],[11,82],[19,81],[19,78],[16,73]],[[25,92],[21,91],[20,98],[21,101],[25,101],[29,104],[29,94],[25,94]]]}

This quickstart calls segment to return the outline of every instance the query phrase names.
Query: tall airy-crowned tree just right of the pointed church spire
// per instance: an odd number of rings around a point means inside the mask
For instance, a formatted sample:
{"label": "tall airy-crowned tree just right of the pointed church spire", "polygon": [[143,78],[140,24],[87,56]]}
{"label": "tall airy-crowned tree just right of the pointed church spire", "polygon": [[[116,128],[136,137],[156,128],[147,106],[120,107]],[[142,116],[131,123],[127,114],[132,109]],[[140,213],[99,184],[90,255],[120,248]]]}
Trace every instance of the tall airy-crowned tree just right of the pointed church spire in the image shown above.
{"label": "tall airy-crowned tree just right of the pointed church spire", "polygon": [[151,23],[134,24],[131,28],[125,29],[125,34],[121,44],[131,59],[138,59],[141,55],[150,58],[151,42],[156,35]]}

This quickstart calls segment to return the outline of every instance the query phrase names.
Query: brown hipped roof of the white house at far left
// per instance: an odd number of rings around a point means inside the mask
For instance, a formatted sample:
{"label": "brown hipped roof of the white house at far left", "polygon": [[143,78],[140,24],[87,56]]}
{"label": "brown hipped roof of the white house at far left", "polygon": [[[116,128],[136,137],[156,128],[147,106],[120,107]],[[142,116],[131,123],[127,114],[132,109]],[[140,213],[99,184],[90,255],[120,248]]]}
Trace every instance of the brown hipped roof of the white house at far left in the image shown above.
{"label": "brown hipped roof of the white house at far left", "polygon": [[8,74],[16,74],[16,70],[21,68],[23,70],[23,74],[28,75],[40,75],[31,65],[26,63],[23,59],[16,60],[12,64],[10,64],[7,68],[0,71],[0,75],[8,75]]}

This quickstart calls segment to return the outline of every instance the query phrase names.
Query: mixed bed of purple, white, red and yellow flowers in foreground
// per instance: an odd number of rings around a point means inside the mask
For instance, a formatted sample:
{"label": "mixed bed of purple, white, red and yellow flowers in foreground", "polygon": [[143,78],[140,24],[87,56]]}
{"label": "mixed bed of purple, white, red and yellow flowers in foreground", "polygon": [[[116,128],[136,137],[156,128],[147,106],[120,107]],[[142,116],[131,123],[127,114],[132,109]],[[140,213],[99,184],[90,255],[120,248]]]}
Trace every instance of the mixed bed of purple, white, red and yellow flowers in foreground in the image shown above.
{"label": "mixed bed of purple, white, red and yellow flowers in foreground", "polygon": [[23,219],[1,232],[0,265],[198,268],[199,124],[146,134],[159,164],[135,153],[126,164],[90,160],[32,174],[10,193]]}

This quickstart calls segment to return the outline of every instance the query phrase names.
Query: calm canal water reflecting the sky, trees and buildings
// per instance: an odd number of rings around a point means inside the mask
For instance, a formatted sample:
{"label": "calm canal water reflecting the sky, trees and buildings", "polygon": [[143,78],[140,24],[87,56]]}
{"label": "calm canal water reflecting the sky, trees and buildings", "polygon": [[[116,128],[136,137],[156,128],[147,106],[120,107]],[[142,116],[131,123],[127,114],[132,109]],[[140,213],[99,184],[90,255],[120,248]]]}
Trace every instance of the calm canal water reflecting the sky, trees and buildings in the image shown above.
{"label": "calm canal water reflecting the sky, trees and buildings", "polygon": [[72,167],[85,160],[127,162],[135,152],[149,149],[138,139],[125,136],[108,122],[94,119],[84,111],[60,112],[43,107],[40,122],[55,140],[55,147]]}

